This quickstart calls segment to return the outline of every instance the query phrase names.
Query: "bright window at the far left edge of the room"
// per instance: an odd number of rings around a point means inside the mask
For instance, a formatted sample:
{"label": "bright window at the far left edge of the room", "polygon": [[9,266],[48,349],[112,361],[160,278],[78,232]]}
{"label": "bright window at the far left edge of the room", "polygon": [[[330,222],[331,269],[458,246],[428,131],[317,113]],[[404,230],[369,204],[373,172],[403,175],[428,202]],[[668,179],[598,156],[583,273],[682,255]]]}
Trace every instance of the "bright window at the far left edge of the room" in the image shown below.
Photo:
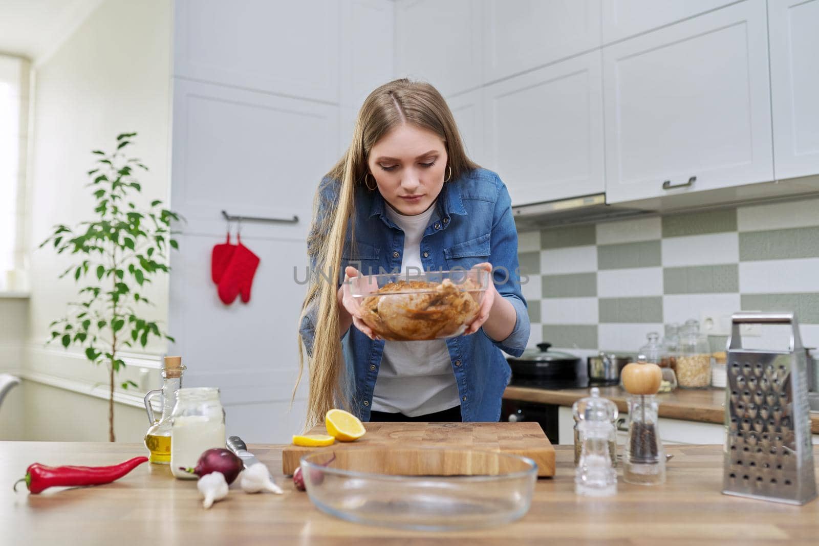
{"label": "bright window at the far left edge of the room", "polygon": [[20,288],[29,63],[0,56],[0,290]]}

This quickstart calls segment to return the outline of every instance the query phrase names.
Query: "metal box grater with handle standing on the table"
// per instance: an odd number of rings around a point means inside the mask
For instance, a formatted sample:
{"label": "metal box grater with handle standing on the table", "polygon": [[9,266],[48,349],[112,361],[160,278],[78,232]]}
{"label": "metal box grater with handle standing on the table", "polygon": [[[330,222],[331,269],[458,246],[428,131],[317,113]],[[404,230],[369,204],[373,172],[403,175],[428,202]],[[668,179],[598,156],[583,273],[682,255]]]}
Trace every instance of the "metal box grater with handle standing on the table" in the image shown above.
{"label": "metal box grater with handle standing on the table", "polygon": [[[799,324],[792,313],[737,313],[731,323],[722,493],[807,503],[817,487]],[[790,351],[743,349],[741,324],[790,325]]]}

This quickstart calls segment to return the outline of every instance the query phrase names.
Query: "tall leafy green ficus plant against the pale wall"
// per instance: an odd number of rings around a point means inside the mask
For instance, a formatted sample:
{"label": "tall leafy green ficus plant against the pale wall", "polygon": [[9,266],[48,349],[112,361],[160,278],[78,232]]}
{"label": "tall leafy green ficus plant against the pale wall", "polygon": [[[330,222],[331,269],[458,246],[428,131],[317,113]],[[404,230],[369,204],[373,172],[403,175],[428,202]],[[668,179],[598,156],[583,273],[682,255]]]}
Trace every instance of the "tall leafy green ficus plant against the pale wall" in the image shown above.
{"label": "tall leafy green ficus plant against the pale wall", "polygon": [[[96,200],[95,216],[71,229],[64,224],[43,241],[51,243],[57,254],[69,253],[77,261],[60,275],[71,275],[82,282],[78,301],[70,302],[66,317],[51,323],[48,343],[59,341],[66,349],[71,345],[84,349],[89,362],[108,367],[108,439],[114,439],[115,377],[125,363],[121,352],[135,345],[143,348],[151,336],[170,341],[160,326],[140,317],[140,310],[153,305],[143,296],[143,287],[156,275],[167,274],[170,248],[179,249],[172,238],[171,222],[179,214],[155,200],[147,208],[133,202],[133,194],[142,191],[135,177],[137,169],[147,166],[136,158],[126,158],[124,149],[137,133],[122,133],[116,138],[111,154],[95,150],[97,166],[88,171]],[[133,381],[121,383],[123,389],[137,386]]]}

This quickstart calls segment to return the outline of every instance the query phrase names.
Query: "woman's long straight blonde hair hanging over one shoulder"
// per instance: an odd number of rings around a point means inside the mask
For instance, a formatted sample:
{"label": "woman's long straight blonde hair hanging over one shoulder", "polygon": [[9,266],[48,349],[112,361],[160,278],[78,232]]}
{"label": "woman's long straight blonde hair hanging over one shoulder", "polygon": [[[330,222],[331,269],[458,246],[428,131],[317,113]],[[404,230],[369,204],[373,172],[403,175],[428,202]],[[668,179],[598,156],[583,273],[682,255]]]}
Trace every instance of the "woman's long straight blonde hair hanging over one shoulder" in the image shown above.
{"label": "woman's long straight blonde hair hanging over one shoulder", "polygon": [[[307,237],[307,254],[314,261],[307,295],[301,305],[299,323],[318,306],[315,314],[313,350],[309,357],[310,391],[306,427],[324,421],[331,408],[351,409],[351,389],[339,338],[337,284],[347,227],[355,231],[355,194],[369,192],[364,176],[369,173],[367,158],[373,146],[391,129],[410,124],[436,133],[446,147],[451,180],[478,165],[466,155],[455,118],[444,97],[429,83],[396,79],[376,88],[364,100],[355,120],[353,139],[342,159],[326,175],[337,184],[337,201],[323,198],[319,187],[313,201],[313,223]],[[377,190],[376,190],[377,191]],[[324,194],[326,196],[326,194]],[[351,244],[353,233],[350,234]],[[328,275],[323,278],[323,275]],[[327,282],[327,279],[330,282]],[[305,352],[299,343],[299,377],[304,372]],[[295,395],[295,390],[294,390]]]}

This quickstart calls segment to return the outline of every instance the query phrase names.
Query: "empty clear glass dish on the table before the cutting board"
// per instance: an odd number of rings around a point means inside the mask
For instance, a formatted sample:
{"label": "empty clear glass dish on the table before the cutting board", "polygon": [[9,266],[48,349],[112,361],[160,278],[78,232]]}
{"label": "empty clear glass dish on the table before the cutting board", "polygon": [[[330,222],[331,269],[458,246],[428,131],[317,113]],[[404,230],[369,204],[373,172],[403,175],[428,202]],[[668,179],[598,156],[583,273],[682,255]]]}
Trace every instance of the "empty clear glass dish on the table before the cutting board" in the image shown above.
{"label": "empty clear glass dish on the table before the cutting board", "polygon": [[327,449],[301,458],[301,472],[310,500],[331,516],[438,531],[523,517],[537,480],[530,458],[441,448]]}

